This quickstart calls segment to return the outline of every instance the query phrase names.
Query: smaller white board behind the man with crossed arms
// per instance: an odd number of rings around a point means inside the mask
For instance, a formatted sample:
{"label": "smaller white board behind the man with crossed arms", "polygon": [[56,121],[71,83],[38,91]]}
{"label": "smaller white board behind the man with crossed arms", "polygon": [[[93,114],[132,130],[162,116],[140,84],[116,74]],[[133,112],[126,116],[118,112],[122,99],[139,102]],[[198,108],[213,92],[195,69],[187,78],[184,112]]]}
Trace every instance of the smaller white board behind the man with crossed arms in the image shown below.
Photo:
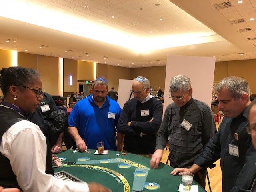
{"label": "smaller white board behind the man with crossed arms", "polygon": [[[129,79],[119,80],[117,102],[120,105],[121,109],[123,109],[125,102],[128,101],[130,98],[131,90],[132,90],[132,82],[133,80],[129,80]],[[132,98],[134,98],[133,94],[131,96],[131,99]]]}

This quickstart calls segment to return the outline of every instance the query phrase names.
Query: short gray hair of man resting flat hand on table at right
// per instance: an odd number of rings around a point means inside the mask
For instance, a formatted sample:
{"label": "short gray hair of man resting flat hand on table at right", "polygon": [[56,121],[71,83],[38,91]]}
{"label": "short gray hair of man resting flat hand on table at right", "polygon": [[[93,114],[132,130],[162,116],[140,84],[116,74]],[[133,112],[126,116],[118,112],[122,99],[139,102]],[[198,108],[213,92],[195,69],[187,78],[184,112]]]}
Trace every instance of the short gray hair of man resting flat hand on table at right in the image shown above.
{"label": "short gray hair of man resting flat hand on table at right", "polygon": [[248,82],[240,77],[229,76],[222,79],[218,84],[214,85],[213,90],[220,93],[222,89],[230,91],[230,96],[235,100],[238,100],[242,94],[248,94],[248,100],[250,99],[250,88]]}

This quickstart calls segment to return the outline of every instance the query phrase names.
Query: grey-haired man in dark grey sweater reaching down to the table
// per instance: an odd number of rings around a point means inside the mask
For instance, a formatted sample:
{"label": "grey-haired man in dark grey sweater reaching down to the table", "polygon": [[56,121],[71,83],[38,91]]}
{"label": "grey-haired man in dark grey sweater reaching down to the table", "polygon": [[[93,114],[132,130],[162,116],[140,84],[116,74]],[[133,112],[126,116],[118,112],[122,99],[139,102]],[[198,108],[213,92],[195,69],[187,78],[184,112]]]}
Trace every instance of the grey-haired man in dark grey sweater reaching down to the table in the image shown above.
{"label": "grey-haired man in dark grey sweater reaching down to the table", "polygon": [[[173,77],[169,91],[174,102],[166,108],[150,166],[158,167],[169,137],[171,166],[190,168],[216,133],[214,117],[207,104],[192,98],[190,78],[184,75]],[[205,178],[206,168],[194,173],[194,180],[203,187]]]}

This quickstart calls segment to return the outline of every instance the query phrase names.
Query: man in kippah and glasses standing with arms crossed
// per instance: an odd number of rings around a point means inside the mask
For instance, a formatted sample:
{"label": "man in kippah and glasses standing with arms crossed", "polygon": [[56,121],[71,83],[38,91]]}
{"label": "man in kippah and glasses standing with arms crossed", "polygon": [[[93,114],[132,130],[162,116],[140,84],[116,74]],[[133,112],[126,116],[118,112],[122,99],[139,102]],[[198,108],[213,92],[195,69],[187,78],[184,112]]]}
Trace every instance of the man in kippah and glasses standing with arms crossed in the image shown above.
{"label": "man in kippah and glasses standing with arms crossed", "polygon": [[151,157],[156,146],[156,135],[162,121],[162,103],[148,93],[150,82],[139,76],[133,80],[134,98],[124,104],[118,121],[118,132],[125,134],[124,150]]}

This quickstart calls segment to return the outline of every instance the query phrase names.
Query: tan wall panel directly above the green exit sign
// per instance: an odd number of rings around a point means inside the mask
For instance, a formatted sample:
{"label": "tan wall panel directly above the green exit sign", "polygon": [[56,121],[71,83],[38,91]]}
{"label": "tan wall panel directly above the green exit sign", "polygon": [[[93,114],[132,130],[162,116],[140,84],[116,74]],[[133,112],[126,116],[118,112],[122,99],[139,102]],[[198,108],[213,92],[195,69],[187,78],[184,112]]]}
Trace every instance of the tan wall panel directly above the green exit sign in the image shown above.
{"label": "tan wall panel directly above the green exit sign", "polygon": [[93,62],[78,60],[77,79],[78,80],[94,80],[93,76]]}

